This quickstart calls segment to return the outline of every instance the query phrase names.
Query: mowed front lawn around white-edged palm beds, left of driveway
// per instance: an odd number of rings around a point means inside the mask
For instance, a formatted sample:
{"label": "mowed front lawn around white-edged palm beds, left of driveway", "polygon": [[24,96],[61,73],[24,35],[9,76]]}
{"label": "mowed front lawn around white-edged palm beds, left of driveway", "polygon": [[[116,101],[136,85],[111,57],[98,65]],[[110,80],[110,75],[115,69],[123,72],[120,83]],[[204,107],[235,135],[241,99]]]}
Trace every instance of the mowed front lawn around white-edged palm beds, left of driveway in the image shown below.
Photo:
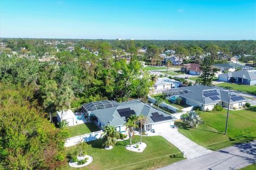
{"label": "mowed front lawn around white-edged palm beds, left of driveway", "polygon": [[[135,136],[133,142],[139,142],[139,140],[140,137]],[[108,169],[118,166],[122,167],[116,169],[155,169],[184,159],[181,153],[175,154],[175,157],[170,156],[174,153],[180,152],[180,150],[161,136],[142,137],[142,142],[147,144],[147,148],[142,153],[126,150],[125,146],[129,145],[129,140],[118,141],[112,150],[103,149],[101,146],[101,139],[87,142],[89,144],[89,147],[87,148],[87,155],[91,155],[93,157],[93,162],[81,169]],[[76,147],[66,148],[66,152],[73,153],[75,148]],[[144,160],[145,162],[141,162]],[[66,165],[63,169],[72,168]]]}

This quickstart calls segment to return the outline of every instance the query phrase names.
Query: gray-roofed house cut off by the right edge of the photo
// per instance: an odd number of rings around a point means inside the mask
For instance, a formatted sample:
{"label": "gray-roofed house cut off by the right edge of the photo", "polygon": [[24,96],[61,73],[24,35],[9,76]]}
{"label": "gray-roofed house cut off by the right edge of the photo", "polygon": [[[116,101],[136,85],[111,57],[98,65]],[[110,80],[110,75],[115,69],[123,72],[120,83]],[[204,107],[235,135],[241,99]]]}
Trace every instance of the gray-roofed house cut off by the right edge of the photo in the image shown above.
{"label": "gray-roofed house cut off by the right edge of the photo", "polygon": [[241,70],[224,73],[219,75],[219,80],[252,86],[256,85],[256,71]]}

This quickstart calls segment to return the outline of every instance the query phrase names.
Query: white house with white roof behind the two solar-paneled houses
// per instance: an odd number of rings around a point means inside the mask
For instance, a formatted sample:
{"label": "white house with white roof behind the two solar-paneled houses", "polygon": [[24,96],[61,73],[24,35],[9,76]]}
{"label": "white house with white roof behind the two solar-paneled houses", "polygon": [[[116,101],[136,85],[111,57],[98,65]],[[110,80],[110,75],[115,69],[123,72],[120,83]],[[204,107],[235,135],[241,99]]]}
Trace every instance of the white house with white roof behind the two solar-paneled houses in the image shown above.
{"label": "white house with white roof behind the two solar-paneled houses", "polygon": [[154,83],[155,90],[167,90],[172,88],[178,88],[180,86],[180,82],[174,79],[169,78],[157,78],[157,81]]}

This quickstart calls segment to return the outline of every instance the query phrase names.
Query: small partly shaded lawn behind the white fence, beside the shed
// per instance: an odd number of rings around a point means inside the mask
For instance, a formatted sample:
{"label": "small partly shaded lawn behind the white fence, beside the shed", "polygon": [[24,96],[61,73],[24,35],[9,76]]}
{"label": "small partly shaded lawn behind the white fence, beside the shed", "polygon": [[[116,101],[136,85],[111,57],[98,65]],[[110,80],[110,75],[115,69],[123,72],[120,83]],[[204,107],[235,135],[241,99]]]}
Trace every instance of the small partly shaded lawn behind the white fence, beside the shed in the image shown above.
{"label": "small partly shaded lawn behind the white fence, beside the shed", "polygon": [[95,123],[84,123],[68,127],[69,137],[75,137],[86,133],[99,131],[100,128]]}

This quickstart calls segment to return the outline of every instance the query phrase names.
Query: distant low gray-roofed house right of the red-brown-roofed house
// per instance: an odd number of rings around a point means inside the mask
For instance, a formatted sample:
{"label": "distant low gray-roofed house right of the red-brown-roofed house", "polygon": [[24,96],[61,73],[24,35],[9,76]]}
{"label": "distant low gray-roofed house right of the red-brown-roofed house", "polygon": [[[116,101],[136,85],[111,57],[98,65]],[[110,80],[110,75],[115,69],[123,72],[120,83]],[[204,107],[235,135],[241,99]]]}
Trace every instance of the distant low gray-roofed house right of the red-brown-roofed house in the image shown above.
{"label": "distant low gray-roofed house right of the red-brown-roofed house", "polygon": [[223,63],[223,64],[214,64],[213,68],[219,69],[222,73],[224,72],[234,72],[236,69],[241,68],[241,70],[253,70],[253,67],[240,65],[238,63]]}

